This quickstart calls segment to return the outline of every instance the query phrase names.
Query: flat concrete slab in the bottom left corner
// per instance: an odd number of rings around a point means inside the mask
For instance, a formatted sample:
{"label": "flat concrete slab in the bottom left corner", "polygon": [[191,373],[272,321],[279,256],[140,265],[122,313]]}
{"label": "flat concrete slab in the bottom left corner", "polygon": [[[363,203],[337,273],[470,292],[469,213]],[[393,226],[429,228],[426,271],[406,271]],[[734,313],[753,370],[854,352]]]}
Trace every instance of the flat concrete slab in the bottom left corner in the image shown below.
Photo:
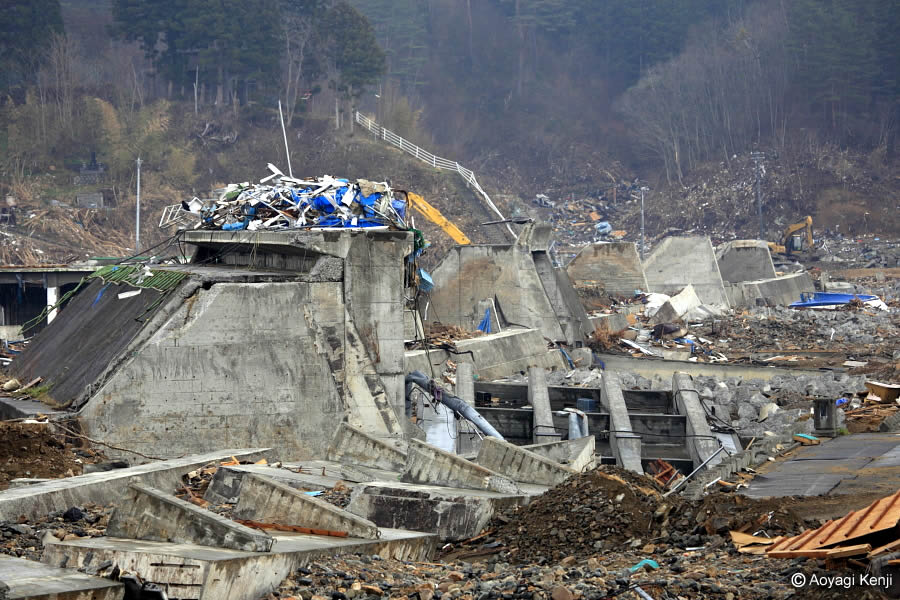
{"label": "flat concrete slab in the bottom left corner", "polygon": [[0,555],[0,600],[122,600],[117,581]]}

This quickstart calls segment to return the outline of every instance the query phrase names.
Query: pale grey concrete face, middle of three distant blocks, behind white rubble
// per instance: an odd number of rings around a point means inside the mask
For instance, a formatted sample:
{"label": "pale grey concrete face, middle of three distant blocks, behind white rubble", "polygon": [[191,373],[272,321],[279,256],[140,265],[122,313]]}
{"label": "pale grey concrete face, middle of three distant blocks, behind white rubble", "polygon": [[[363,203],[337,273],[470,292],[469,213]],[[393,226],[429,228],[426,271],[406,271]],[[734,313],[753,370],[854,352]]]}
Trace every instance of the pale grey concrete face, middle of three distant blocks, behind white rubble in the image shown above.
{"label": "pale grey concrete face, middle of three distant blocks, behind white rubble", "polygon": [[674,295],[692,284],[704,304],[729,305],[719,263],[708,237],[669,237],[644,261],[651,292]]}

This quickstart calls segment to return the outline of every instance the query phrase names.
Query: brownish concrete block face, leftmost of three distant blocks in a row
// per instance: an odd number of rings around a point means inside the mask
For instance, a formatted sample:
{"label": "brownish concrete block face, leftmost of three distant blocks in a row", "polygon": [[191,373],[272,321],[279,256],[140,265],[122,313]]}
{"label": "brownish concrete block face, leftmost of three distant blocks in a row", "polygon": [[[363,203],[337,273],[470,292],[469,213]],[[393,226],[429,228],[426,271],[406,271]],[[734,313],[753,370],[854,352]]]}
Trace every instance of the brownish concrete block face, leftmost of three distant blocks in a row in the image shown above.
{"label": "brownish concrete block face, leftmost of three distant blocks in a row", "polygon": [[566,267],[575,285],[600,286],[611,296],[630,298],[648,289],[644,268],[632,242],[585,246]]}

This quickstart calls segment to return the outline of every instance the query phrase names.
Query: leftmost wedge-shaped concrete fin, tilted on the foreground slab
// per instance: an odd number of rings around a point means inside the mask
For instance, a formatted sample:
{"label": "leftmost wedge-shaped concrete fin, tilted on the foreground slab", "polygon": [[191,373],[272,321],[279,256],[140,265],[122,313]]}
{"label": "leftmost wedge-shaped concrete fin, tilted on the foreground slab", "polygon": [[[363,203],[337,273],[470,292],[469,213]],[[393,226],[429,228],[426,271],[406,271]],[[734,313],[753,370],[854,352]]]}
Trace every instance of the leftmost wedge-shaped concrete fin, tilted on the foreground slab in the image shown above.
{"label": "leftmost wedge-shaped concrete fin, tilted on the foreground slab", "polygon": [[132,483],[106,528],[109,537],[268,552],[274,540],[155,488]]}

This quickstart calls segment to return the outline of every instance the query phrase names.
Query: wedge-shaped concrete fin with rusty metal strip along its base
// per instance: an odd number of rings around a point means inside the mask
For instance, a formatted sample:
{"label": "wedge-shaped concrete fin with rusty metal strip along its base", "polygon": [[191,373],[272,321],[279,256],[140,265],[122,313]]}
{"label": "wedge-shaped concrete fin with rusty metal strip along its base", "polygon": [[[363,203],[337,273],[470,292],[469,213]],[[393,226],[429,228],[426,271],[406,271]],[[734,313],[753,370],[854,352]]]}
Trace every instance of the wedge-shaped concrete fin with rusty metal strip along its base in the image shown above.
{"label": "wedge-shaped concrete fin with rusty metal strip along its base", "polygon": [[341,531],[366,540],[380,537],[378,527],[371,521],[260,475],[244,476],[234,516],[261,523]]}

